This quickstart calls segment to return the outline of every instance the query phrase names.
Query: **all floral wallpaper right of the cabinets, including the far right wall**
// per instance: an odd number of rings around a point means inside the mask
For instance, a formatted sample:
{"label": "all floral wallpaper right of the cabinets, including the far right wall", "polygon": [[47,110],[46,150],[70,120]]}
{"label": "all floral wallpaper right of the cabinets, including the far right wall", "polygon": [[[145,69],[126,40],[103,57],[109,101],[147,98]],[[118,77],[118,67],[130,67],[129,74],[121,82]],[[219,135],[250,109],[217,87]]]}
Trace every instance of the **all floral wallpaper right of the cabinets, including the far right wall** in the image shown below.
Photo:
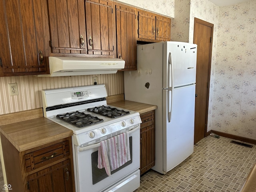
{"label": "all floral wallpaper right of the cabinets, including the far right wall", "polygon": [[207,131],[256,139],[256,0],[218,7],[175,0],[173,41],[193,42],[194,18],[214,24]]}

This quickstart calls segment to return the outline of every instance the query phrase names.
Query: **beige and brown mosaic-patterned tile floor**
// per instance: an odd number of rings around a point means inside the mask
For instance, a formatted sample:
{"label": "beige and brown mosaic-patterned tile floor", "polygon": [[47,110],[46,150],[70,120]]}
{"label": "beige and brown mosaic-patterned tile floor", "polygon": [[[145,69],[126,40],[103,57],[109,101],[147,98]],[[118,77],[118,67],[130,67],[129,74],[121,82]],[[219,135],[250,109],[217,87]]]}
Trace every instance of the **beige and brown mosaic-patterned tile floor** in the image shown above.
{"label": "beige and brown mosaic-patterned tile floor", "polygon": [[239,192],[256,163],[256,146],[230,143],[208,136],[194,145],[194,153],[167,174],[150,170],[135,192]]}

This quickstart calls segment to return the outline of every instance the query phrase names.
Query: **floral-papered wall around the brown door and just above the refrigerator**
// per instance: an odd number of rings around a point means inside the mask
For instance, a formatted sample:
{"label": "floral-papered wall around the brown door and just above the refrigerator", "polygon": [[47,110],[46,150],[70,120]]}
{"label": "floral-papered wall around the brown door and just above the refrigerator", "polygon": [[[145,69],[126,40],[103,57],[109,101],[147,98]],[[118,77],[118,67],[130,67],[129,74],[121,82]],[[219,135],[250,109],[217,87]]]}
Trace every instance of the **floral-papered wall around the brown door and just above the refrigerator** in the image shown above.
{"label": "floral-papered wall around the brown door and just above the refrigerator", "polygon": [[217,51],[219,7],[208,0],[175,0],[175,17],[172,19],[171,40],[193,43],[194,38],[194,18],[214,24],[212,61],[210,74],[210,94],[208,109],[208,130],[212,129],[212,105],[214,72]]}

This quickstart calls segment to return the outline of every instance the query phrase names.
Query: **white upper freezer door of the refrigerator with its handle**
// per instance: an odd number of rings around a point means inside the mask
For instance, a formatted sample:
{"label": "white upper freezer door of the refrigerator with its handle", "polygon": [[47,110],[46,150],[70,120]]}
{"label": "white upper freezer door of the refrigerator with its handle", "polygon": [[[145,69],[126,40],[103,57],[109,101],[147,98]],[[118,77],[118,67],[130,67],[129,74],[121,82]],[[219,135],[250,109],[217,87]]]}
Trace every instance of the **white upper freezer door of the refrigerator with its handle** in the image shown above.
{"label": "white upper freezer door of the refrigerator with its handle", "polygon": [[195,83],[197,45],[185,42],[164,42],[163,50],[163,87],[175,88]]}

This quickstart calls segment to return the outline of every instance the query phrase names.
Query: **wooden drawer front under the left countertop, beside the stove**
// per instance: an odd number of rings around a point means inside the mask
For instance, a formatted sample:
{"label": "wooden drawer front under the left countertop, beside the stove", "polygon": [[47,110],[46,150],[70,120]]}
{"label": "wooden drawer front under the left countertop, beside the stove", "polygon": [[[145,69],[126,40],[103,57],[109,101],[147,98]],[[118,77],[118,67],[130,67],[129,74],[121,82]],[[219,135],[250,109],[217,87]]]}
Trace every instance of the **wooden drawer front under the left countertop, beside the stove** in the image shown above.
{"label": "wooden drawer front under the left countertop, beside the stove", "polygon": [[30,172],[70,155],[68,140],[25,155],[26,170]]}

